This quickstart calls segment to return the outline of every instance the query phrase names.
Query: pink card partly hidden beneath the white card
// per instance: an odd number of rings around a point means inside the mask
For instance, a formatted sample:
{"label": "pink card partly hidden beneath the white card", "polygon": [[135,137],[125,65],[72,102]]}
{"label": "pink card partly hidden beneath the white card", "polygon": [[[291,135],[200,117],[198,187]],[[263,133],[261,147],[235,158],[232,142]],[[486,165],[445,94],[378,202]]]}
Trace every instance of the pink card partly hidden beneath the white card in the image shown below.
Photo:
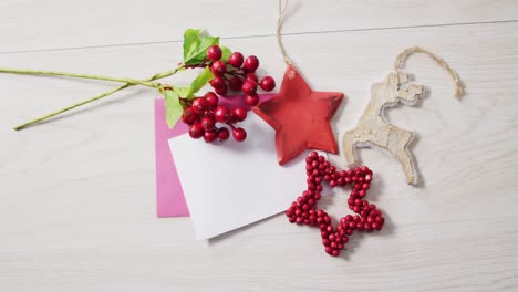
{"label": "pink card partly hidden beneath the white card", "polygon": [[[260,101],[273,97],[273,94],[259,95]],[[245,105],[242,96],[221,98],[221,105],[232,107]],[[164,100],[155,100],[155,159],[156,159],[156,215],[158,217],[189,216],[184,191],[176,171],[175,160],[170,155],[168,140],[187,133],[187,126],[179,122],[170,129],[165,118]],[[204,143],[200,140],[199,143]],[[234,143],[234,142],[228,142]]]}

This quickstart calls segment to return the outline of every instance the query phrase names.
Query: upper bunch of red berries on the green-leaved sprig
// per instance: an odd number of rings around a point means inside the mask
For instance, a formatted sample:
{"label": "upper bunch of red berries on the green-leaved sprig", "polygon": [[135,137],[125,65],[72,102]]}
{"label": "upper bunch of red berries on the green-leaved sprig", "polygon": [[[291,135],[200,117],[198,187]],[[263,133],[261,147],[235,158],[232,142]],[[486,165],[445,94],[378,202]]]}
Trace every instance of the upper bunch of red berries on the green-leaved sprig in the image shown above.
{"label": "upper bunch of red berries on the green-leaved sprig", "polygon": [[256,106],[259,103],[257,95],[258,85],[267,92],[276,87],[276,81],[271,76],[265,76],[258,82],[256,70],[259,67],[259,59],[249,55],[247,59],[240,52],[234,52],[227,62],[221,61],[222,52],[218,45],[207,50],[208,60],[213,61],[210,71],[216,75],[210,85],[217,94],[225,95],[228,90],[245,93],[245,103]]}

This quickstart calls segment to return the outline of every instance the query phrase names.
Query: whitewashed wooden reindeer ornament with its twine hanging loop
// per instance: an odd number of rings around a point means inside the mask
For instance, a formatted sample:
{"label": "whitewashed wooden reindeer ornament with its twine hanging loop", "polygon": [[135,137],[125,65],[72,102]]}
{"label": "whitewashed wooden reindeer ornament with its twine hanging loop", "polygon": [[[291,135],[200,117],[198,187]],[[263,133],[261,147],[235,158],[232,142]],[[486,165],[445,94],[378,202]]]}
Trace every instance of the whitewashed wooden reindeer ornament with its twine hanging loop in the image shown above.
{"label": "whitewashed wooden reindeer ornament with its twine hanging loop", "polygon": [[416,52],[427,54],[452,75],[455,82],[455,96],[460,97],[463,94],[460,80],[446,62],[418,46],[410,48],[396,58],[394,72],[390,72],[382,82],[372,85],[371,101],[367,108],[356,127],[345,132],[343,136],[343,150],[350,166],[358,165],[355,150],[359,147],[384,149],[402,165],[406,181],[410,185],[417,184],[414,157],[408,150],[414,133],[392,125],[384,116],[384,109],[395,106],[397,103],[412,106],[423,95],[424,86],[411,84],[408,74],[400,72],[400,67],[402,67],[408,55]]}

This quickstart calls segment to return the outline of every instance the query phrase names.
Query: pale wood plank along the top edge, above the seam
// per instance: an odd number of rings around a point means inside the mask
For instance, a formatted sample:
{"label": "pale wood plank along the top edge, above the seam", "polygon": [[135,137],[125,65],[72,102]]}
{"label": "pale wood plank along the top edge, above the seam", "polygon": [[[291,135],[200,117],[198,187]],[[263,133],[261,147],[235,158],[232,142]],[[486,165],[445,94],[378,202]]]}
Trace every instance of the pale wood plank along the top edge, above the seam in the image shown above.
{"label": "pale wood plank along the top edge, above the seam", "polygon": [[[277,1],[0,2],[0,53],[179,41],[204,27],[235,38],[274,33]],[[286,33],[518,20],[517,0],[291,0]],[[315,14],[318,13],[318,14]]]}

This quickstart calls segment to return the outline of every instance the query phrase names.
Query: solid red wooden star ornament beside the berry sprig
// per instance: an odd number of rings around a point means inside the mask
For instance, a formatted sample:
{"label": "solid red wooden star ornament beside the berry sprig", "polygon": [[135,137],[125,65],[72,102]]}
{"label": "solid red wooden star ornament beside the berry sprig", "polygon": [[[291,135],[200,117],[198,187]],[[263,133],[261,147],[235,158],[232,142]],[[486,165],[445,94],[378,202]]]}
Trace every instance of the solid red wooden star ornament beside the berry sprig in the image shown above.
{"label": "solid red wooden star ornament beside the berry sprig", "polygon": [[252,111],[276,129],[277,159],[283,165],[304,149],[336,154],[330,119],[343,100],[341,92],[317,92],[288,65],[278,96]]}

